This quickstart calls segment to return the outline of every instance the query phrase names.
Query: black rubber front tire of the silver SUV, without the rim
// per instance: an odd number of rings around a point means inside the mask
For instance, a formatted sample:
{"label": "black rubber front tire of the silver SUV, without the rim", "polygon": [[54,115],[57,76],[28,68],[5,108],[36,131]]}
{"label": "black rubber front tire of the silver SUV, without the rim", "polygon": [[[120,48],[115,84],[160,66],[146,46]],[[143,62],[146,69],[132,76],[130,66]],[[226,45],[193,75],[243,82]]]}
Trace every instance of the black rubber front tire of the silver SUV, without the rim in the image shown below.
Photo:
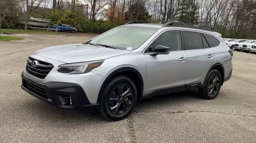
{"label": "black rubber front tire of the silver SUV, without the rim", "polygon": [[[108,99],[110,96],[110,92],[112,92],[113,88],[115,88],[118,84],[122,84],[122,83],[126,83],[132,88],[132,90],[134,92],[134,101],[133,101],[132,107],[130,109],[128,109],[128,111],[126,113],[124,113],[122,115],[115,115],[110,111],[110,108],[108,105],[109,104]],[[116,78],[113,78],[113,80],[111,80],[107,84],[106,88],[104,89],[104,92],[102,95],[101,106],[102,106],[107,118],[110,118],[112,120],[119,120],[119,119],[125,118],[126,116],[128,116],[131,113],[136,102],[137,102],[137,89],[136,89],[135,84],[127,76],[117,76]]]}

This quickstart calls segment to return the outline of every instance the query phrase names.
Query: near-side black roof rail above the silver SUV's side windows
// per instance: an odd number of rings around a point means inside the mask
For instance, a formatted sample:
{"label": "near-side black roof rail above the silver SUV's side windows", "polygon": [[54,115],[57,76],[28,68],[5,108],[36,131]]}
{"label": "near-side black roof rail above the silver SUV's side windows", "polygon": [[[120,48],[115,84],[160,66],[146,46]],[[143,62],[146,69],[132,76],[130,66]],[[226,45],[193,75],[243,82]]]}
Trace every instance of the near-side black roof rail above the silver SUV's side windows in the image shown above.
{"label": "near-side black roof rail above the silver SUV's side windows", "polygon": [[214,31],[212,27],[208,25],[195,25],[195,24],[184,24],[184,22],[167,22],[162,27],[186,27],[186,28],[194,28],[194,29],[201,29],[207,31]]}

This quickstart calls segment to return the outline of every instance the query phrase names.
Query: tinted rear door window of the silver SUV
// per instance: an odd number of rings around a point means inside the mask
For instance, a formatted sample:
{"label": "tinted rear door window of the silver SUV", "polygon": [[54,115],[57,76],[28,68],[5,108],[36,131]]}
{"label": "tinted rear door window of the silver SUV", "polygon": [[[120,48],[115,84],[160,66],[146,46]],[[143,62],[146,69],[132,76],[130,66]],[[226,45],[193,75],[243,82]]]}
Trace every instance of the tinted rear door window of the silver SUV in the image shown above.
{"label": "tinted rear door window of the silver SUV", "polygon": [[203,42],[200,33],[192,31],[183,31],[183,33],[186,50],[203,49]]}

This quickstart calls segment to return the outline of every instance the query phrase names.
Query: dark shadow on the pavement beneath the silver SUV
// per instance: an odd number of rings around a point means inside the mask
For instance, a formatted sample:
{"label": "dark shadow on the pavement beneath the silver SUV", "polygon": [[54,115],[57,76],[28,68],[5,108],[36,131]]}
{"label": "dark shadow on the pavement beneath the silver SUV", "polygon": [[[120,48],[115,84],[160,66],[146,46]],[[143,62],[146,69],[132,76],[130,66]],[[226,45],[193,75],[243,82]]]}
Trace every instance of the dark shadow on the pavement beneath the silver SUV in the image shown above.
{"label": "dark shadow on the pavement beneath the silver SUV", "polygon": [[[157,108],[167,107],[176,104],[181,104],[182,102],[190,102],[191,100],[203,100],[198,96],[197,90],[188,90],[186,92],[178,92],[172,93],[168,95],[159,95],[154,96],[152,98],[148,98],[139,102],[135,110],[146,110],[149,107],[152,108],[154,106],[154,110]],[[40,120],[48,120],[50,122],[95,122],[95,121],[103,121],[106,122],[105,119],[101,118],[96,109],[63,109],[56,106],[51,106],[46,102],[42,102],[36,98],[31,97],[31,100],[26,100],[22,108],[23,110],[29,111],[30,115],[33,116],[34,119]],[[171,107],[170,107],[171,108]],[[151,110],[151,109],[148,109]],[[153,110],[153,109],[152,109]]]}

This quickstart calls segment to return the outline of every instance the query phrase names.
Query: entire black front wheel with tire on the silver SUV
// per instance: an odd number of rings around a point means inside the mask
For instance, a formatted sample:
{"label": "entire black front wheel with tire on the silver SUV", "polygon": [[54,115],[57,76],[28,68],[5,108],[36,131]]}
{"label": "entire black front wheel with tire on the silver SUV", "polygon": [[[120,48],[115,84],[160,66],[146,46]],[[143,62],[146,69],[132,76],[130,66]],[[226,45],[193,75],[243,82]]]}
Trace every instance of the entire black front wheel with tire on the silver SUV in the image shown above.
{"label": "entire black front wheel with tire on the silver SUV", "polygon": [[127,76],[112,78],[103,90],[99,114],[108,120],[117,121],[126,118],[137,101],[137,89]]}

